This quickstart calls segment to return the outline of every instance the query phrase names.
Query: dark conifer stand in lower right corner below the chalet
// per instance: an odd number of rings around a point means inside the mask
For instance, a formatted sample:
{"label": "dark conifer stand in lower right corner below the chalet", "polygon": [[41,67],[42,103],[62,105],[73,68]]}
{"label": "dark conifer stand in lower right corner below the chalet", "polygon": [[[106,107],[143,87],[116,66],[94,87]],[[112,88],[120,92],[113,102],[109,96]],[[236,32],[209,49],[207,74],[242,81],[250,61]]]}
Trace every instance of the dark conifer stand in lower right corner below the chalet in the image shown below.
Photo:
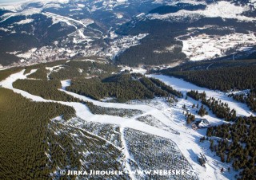
{"label": "dark conifer stand in lower right corner below the chalet", "polygon": [[256,117],[238,117],[234,123],[209,127],[210,149],[222,162],[232,162],[234,170],[242,170],[238,179],[254,179],[256,174]]}

